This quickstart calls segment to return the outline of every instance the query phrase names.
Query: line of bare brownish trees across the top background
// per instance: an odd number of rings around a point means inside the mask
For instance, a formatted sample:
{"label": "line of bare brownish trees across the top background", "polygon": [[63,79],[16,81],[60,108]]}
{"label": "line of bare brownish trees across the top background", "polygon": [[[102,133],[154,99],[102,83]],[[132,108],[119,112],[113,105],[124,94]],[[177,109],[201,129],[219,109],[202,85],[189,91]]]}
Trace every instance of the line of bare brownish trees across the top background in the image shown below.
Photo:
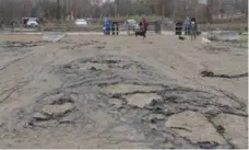
{"label": "line of bare brownish trees across the top background", "polygon": [[0,0],[0,19],[8,22],[22,18],[66,20],[73,18],[127,16],[135,14],[182,19],[187,14],[211,21],[213,16],[248,14],[248,0]]}

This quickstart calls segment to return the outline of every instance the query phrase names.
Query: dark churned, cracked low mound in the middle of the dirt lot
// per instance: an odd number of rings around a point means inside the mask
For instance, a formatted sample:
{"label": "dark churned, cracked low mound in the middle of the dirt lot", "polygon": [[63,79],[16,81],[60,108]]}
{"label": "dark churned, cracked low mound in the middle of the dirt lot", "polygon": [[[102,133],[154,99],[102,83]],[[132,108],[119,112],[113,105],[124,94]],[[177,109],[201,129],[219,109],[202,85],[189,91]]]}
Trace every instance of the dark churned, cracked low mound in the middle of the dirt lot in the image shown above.
{"label": "dark churned, cracked low mound in the middle of the dirt lot", "polygon": [[63,85],[13,112],[9,129],[62,131],[67,125],[87,136],[108,137],[109,146],[131,142],[137,148],[245,147],[226,135],[229,127],[212,120],[221,114],[234,116],[239,123],[230,124],[241,124],[246,131],[240,119],[248,117],[246,104],[238,99],[173,84],[153,68],[122,56],[78,59],[57,66],[54,73]]}

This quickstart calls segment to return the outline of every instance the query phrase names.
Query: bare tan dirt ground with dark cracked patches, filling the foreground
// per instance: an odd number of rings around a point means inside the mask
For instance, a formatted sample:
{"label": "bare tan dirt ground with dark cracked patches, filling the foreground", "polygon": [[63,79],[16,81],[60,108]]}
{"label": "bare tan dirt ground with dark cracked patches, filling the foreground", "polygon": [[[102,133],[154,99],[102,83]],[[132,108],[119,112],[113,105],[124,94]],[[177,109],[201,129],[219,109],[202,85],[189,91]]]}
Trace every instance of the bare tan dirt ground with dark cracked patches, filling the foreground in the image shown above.
{"label": "bare tan dirt ground with dark cracked patches, filling the foreground", "polygon": [[0,36],[0,148],[248,147],[244,44],[40,39]]}

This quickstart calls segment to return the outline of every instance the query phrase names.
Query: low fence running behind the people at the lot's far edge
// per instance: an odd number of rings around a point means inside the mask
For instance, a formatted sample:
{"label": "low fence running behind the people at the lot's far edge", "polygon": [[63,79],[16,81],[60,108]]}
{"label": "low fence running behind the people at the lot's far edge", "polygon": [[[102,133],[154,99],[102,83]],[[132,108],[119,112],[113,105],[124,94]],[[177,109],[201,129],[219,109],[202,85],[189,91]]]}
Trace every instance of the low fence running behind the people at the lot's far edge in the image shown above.
{"label": "low fence running behind the people at the lot's far edge", "polygon": [[[199,24],[199,31],[238,31],[238,32],[247,32],[248,24]],[[133,28],[129,28],[126,24],[120,23],[118,27],[119,32],[128,32],[133,31]],[[171,31],[175,32],[176,25],[171,24],[162,24],[151,22],[149,23],[149,31],[161,33],[162,31]],[[79,32],[103,32],[103,25],[88,25],[87,27],[79,27],[73,24],[54,24],[54,25],[44,25],[39,27],[26,27],[23,25],[3,25],[0,28],[0,33],[43,33],[43,32],[70,32],[70,33],[79,33]]]}

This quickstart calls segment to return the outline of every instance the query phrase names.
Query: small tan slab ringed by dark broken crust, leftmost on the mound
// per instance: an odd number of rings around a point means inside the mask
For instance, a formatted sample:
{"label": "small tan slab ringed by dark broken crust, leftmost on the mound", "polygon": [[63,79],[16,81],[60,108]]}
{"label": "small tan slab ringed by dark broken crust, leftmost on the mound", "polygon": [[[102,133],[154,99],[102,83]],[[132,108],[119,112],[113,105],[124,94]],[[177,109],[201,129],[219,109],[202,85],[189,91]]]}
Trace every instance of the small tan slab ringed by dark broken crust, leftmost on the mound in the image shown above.
{"label": "small tan slab ringed by dark broken crust, leftmost on the mound", "polygon": [[46,105],[43,107],[43,113],[49,116],[59,117],[74,108],[72,103],[64,103],[62,105]]}

